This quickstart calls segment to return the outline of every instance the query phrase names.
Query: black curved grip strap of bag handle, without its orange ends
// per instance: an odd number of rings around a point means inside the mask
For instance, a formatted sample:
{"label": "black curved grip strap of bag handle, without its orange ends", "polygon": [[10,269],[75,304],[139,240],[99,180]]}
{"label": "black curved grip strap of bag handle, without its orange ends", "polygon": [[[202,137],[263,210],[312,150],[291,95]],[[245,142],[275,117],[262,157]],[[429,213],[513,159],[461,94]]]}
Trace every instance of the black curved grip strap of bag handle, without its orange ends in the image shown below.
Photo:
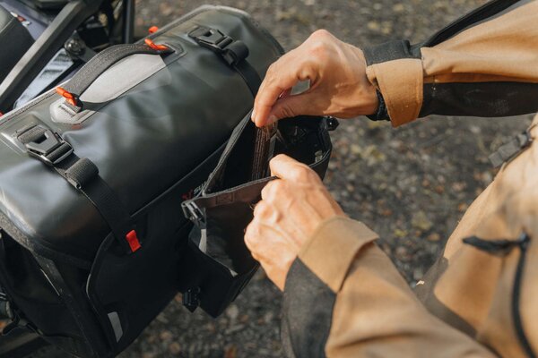
{"label": "black curved grip strap of bag handle, without its orange ends", "polygon": [[78,105],[80,103],[80,97],[85,90],[91,86],[99,76],[108,70],[113,64],[130,56],[137,54],[147,55],[166,55],[172,52],[171,49],[154,49],[147,44],[131,44],[131,45],[116,45],[108,47],[101,51],[98,55],[95,55],[90,62],[84,64],[79,72],[76,72],[74,77],[68,81],[63,87],[64,90],[71,93],[74,98],[78,99]]}

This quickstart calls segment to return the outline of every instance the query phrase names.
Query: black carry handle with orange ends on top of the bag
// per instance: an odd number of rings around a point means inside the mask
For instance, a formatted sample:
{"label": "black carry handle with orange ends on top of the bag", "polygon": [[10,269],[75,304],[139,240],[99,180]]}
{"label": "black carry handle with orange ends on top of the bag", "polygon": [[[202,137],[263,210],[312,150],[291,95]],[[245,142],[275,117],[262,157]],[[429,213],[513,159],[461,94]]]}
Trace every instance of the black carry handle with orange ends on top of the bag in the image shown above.
{"label": "black carry handle with orange ends on top of the bag", "polygon": [[82,94],[113,64],[130,55],[168,55],[172,52],[174,51],[170,47],[157,45],[150,38],[146,38],[143,44],[108,47],[95,55],[87,64],[84,64],[82,69],[64,87],[56,87],[56,92],[65,98],[67,107],[70,107],[75,113],[79,113],[83,107],[80,99]]}

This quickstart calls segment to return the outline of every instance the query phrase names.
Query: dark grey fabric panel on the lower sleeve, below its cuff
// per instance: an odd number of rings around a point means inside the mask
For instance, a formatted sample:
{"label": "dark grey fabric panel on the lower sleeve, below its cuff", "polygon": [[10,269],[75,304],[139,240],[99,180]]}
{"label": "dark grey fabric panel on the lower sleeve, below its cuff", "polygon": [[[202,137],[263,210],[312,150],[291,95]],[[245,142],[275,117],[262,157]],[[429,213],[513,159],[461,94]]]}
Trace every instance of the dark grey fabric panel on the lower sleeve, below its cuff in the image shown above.
{"label": "dark grey fabric panel on the lower sleeve, below its cuff", "polygon": [[336,294],[305,264],[291,264],[282,307],[282,342],[288,357],[325,357]]}

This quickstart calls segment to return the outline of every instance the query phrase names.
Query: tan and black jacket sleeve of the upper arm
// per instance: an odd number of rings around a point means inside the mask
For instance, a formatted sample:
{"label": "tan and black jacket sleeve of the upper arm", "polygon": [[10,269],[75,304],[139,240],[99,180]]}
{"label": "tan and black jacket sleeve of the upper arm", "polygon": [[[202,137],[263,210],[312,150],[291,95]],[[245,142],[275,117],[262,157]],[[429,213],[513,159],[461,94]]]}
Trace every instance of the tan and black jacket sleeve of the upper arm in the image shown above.
{"label": "tan and black jacket sleeve of the upper arm", "polygon": [[538,110],[538,1],[494,0],[429,40],[367,47],[367,76],[394,126],[426,115]]}

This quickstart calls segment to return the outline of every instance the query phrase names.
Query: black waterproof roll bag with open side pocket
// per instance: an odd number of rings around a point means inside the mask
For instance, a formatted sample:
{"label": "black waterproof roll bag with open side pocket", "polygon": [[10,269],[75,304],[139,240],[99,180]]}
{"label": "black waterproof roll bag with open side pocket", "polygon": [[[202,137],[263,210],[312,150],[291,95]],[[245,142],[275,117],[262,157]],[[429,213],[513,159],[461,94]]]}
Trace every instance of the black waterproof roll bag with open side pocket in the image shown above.
{"label": "black waterproof roll bag with open side pocket", "polygon": [[[0,117],[4,333],[23,327],[71,354],[111,357],[178,293],[213,316],[239,294],[256,268],[241,233],[270,180],[249,183],[243,166],[250,110],[280,55],[247,13],[204,6]],[[274,152],[323,174],[326,123],[282,121]],[[189,238],[181,204],[195,196],[209,251],[197,230]]]}

